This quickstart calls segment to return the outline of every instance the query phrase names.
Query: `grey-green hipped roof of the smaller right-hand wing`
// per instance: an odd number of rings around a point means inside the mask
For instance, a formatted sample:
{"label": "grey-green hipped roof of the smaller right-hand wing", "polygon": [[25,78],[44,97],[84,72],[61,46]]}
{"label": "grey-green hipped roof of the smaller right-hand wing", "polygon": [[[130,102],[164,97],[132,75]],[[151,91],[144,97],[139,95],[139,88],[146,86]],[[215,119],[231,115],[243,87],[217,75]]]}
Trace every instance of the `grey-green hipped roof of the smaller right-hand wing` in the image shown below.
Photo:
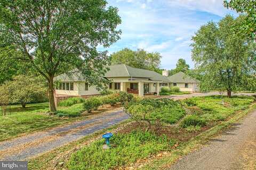
{"label": "grey-green hipped roof of the smaller right-hand wing", "polygon": [[190,77],[189,75],[186,75],[183,72],[178,72],[176,74],[173,74],[170,77],[168,77],[167,79],[169,79],[170,82],[174,82],[174,83],[195,83],[195,82],[199,82],[198,80]]}

